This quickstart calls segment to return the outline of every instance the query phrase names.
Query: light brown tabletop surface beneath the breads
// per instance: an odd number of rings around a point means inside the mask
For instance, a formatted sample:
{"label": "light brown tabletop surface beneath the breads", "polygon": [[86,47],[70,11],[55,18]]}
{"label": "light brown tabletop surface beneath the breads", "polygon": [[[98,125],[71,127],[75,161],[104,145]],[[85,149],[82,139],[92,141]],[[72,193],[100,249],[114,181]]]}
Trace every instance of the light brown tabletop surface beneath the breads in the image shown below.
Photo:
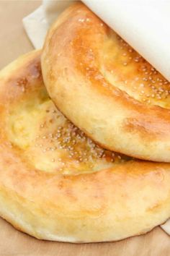
{"label": "light brown tabletop surface beneath the breads", "polygon": [[[40,5],[40,1],[0,1],[0,68],[20,54],[33,49],[22,27],[22,17]],[[120,242],[69,244],[45,242],[15,230],[0,218],[0,255],[57,256],[168,256],[170,237],[157,227],[143,236]]]}

